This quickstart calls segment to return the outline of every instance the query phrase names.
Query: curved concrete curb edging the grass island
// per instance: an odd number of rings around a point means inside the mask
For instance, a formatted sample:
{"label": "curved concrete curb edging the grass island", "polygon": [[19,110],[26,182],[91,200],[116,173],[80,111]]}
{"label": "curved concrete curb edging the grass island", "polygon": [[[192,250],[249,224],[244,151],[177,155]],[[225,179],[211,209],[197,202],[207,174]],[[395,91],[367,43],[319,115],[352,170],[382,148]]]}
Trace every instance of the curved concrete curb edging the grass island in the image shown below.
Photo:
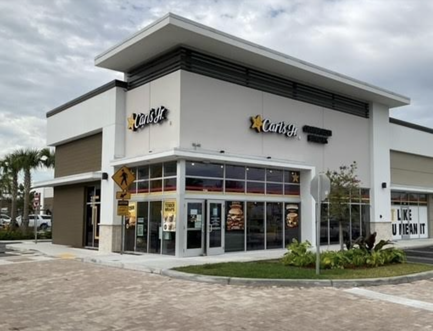
{"label": "curved concrete curb edging the grass island", "polygon": [[341,279],[341,280],[316,280],[316,279],[262,279],[262,278],[236,278],[220,276],[204,276],[196,274],[182,273],[175,270],[165,269],[161,275],[182,279],[191,282],[213,283],[223,285],[242,285],[242,286],[291,286],[291,287],[359,287],[359,286],[379,286],[411,283],[419,280],[433,278],[433,271],[423,273],[396,276],[389,278],[366,278],[366,279]]}

